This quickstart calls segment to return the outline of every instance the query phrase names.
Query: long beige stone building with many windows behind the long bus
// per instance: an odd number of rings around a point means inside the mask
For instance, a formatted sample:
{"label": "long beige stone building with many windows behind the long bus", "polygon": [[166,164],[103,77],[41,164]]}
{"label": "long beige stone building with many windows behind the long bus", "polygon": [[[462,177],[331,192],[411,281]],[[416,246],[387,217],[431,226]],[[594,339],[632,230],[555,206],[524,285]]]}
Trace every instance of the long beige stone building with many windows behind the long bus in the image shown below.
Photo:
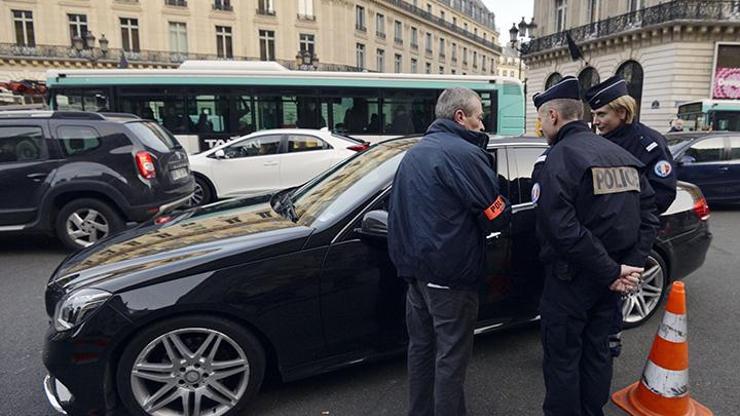
{"label": "long beige stone building with many windows behind the long bus", "polygon": [[2,0],[0,22],[0,82],[186,59],[495,74],[501,54],[480,0]]}

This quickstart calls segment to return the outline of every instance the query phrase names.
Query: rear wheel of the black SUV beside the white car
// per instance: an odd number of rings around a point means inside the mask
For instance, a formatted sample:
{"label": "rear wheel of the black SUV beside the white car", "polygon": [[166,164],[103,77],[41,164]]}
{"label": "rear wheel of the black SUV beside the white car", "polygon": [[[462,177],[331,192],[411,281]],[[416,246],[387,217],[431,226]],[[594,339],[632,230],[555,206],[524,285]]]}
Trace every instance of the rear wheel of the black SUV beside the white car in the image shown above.
{"label": "rear wheel of the black SUV beside the white car", "polygon": [[68,202],[54,222],[57,237],[67,248],[79,250],[124,229],[121,216],[110,205],[94,198]]}

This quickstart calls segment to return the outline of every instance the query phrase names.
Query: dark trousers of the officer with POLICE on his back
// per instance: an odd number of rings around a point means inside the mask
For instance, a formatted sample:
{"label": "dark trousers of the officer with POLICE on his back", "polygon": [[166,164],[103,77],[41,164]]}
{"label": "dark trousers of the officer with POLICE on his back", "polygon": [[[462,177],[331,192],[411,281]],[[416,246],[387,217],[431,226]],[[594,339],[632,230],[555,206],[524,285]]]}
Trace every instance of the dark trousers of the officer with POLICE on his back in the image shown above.
{"label": "dark trousers of the officer with POLICE on his back", "polygon": [[590,306],[584,302],[580,308],[544,302],[543,298],[541,335],[547,392],[542,409],[546,416],[604,415],[612,379],[608,337],[614,323],[614,297],[605,292],[598,301]]}

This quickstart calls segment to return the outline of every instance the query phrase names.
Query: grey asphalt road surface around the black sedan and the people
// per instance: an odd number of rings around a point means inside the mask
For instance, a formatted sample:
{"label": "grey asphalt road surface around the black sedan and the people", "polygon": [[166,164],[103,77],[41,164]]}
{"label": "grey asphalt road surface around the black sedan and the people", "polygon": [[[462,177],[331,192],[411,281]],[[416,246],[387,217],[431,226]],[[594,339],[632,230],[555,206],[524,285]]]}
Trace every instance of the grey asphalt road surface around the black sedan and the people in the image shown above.
{"label": "grey asphalt road surface around the black sedan and the people", "polygon": [[[694,398],[716,415],[740,415],[740,211],[715,210],[714,241],[705,265],[685,279],[689,309],[690,382]],[[54,415],[41,387],[47,317],[43,290],[64,258],[44,237],[0,236],[0,416]],[[625,334],[613,389],[642,372],[662,314]],[[471,415],[539,415],[544,383],[535,326],[476,339],[468,371]],[[265,386],[246,415],[402,415],[406,409],[403,357],[297,382]],[[620,415],[611,404],[608,415]]]}

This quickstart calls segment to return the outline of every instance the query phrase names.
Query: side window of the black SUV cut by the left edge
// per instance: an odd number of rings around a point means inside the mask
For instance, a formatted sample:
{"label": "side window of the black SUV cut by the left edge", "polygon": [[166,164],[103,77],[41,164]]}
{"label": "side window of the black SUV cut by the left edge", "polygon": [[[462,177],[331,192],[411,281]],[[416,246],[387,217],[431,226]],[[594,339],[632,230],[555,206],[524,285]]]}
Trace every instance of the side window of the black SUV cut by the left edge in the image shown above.
{"label": "side window of the black SUV cut by the left edge", "polygon": [[0,127],[0,163],[42,160],[46,155],[40,127]]}

